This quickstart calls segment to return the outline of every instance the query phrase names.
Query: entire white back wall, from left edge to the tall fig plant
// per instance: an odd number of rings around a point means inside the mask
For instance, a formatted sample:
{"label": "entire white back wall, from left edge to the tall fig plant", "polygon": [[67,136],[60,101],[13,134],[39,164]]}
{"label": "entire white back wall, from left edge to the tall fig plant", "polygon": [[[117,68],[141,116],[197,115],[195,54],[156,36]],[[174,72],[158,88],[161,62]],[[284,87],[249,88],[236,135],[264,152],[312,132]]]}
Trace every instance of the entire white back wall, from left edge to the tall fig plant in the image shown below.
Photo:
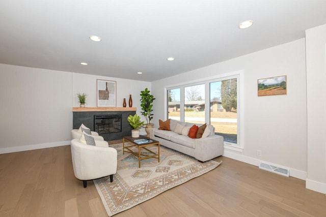
{"label": "entire white back wall, from left edge to the tall fig plant", "polygon": [[96,79],[117,81],[117,107],[131,94],[145,120],[140,91],[150,82],[0,64],[0,153],[70,144],[76,94],[85,92],[86,106],[96,107]]}

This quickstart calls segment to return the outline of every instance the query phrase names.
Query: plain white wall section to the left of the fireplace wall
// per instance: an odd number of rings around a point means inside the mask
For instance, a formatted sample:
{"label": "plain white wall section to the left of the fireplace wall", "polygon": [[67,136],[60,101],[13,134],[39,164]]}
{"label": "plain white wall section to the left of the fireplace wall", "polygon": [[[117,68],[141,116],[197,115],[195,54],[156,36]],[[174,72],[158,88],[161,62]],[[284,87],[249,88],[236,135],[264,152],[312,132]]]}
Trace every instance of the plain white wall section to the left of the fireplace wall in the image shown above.
{"label": "plain white wall section to the left of the fireplace wall", "polygon": [[0,64],[0,153],[69,144],[71,73]]}

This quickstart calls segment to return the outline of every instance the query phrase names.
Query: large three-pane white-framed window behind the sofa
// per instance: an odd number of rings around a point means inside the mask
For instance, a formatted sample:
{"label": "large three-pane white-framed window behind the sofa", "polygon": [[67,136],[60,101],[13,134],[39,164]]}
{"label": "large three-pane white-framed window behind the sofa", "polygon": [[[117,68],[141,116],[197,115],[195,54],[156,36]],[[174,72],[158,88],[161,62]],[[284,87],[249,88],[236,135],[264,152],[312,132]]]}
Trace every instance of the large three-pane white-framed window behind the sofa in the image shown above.
{"label": "large three-pane white-framed window behind the sofa", "polygon": [[240,74],[236,74],[167,88],[168,118],[210,123],[215,134],[224,137],[225,147],[242,151],[239,86]]}

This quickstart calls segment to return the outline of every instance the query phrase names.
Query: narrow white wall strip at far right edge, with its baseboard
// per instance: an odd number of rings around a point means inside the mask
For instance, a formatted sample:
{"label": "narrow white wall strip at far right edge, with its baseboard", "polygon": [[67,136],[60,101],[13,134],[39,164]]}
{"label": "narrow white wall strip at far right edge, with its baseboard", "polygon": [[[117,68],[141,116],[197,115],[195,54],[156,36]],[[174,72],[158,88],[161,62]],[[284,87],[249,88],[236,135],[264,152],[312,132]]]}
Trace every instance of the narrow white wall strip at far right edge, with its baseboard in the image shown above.
{"label": "narrow white wall strip at far right edge, with its baseboard", "polygon": [[326,193],[326,25],[306,30],[308,177],[306,187]]}

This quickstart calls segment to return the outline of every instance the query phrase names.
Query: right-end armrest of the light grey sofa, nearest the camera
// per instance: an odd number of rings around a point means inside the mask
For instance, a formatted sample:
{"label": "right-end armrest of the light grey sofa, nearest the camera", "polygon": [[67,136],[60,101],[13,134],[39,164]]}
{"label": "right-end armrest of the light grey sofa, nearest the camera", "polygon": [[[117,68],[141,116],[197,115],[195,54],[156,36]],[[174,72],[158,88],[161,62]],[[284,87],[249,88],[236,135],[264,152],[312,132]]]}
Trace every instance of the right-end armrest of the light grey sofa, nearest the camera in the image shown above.
{"label": "right-end armrest of the light grey sofa, nearest the camera", "polygon": [[199,161],[208,161],[224,153],[224,138],[212,135],[196,139],[195,158]]}

